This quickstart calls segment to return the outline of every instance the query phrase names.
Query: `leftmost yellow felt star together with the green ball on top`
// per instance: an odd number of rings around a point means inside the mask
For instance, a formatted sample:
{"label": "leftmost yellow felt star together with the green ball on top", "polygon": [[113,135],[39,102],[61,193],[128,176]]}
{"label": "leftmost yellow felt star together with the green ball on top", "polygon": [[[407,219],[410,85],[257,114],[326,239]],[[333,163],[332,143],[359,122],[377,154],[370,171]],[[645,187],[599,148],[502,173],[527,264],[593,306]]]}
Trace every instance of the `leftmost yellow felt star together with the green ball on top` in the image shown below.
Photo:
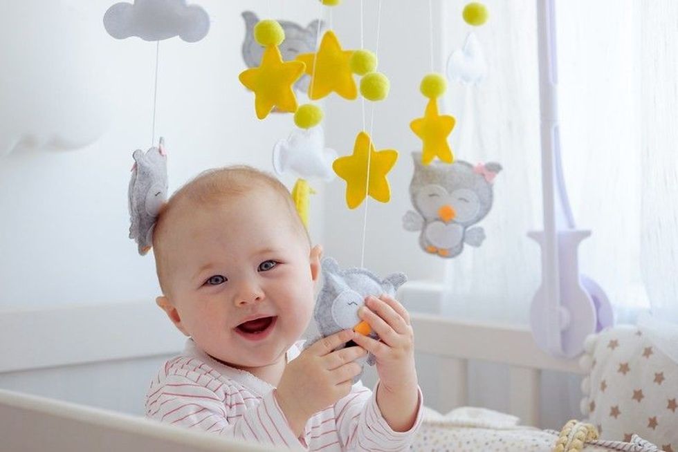
{"label": "leftmost yellow felt star together with the green ball on top", "polygon": [[259,21],[254,28],[255,39],[266,46],[262,62],[257,68],[246,69],[239,79],[255,93],[255,111],[262,120],[273,107],[280,111],[296,111],[297,98],[292,85],[304,73],[302,62],[283,62],[277,46],[285,39],[280,23],[274,20]]}

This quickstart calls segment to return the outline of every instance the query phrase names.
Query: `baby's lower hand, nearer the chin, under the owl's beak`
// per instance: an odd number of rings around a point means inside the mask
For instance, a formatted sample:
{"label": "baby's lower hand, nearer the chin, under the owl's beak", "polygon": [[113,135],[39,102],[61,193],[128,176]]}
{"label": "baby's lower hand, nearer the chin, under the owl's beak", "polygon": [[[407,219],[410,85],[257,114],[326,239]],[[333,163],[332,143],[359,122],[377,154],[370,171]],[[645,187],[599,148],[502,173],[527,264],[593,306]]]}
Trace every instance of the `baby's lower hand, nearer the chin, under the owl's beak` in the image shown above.
{"label": "baby's lower hand, nearer the chin, under the owl's beak", "polygon": [[342,330],[324,337],[287,364],[275,398],[296,435],[304,431],[309,417],[351,392],[353,378],[361,372],[354,361],[367,352],[361,347],[332,350],[354,335]]}

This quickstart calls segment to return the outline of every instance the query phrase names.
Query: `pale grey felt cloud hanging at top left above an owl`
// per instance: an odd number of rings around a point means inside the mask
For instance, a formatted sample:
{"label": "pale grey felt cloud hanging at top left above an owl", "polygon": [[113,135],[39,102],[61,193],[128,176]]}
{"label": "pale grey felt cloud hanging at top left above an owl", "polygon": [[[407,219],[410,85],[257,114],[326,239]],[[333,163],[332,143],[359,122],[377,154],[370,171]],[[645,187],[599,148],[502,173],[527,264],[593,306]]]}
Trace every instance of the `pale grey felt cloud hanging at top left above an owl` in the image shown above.
{"label": "pale grey felt cloud hanging at top left above an owl", "polygon": [[210,17],[199,6],[187,6],[185,0],[134,0],[134,4],[111,6],[104,14],[104,27],[116,39],[138,36],[162,41],[178,36],[196,42],[210,30]]}

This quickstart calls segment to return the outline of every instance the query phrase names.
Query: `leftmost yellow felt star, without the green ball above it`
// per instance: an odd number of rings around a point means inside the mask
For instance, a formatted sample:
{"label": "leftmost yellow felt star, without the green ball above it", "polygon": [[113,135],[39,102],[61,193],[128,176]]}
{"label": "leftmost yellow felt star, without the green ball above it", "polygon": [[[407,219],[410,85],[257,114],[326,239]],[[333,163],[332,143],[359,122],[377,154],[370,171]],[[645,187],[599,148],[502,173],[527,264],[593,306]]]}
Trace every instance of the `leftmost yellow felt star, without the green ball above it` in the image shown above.
{"label": "leftmost yellow felt star, without the green ball above it", "polygon": [[238,78],[254,91],[257,117],[263,120],[274,106],[280,111],[297,110],[292,85],[303,73],[302,62],[284,62],[277,46],[266,46],[259,67],[242,71]]}

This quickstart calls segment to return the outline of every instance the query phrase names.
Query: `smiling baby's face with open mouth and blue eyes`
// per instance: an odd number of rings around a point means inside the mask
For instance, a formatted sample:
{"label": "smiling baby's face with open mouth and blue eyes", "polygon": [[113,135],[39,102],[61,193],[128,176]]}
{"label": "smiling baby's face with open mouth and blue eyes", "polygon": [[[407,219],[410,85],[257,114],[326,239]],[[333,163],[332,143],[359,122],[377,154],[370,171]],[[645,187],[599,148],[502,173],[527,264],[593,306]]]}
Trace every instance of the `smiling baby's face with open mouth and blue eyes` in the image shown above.
{"label": "smiling baby's face with open mouth and blue eyes", "polygon": [[295,229],[284,201],[262,190],[181,208],[163,243],[170,318],[232,366],[284,358],[311,319],[320,248]]}

